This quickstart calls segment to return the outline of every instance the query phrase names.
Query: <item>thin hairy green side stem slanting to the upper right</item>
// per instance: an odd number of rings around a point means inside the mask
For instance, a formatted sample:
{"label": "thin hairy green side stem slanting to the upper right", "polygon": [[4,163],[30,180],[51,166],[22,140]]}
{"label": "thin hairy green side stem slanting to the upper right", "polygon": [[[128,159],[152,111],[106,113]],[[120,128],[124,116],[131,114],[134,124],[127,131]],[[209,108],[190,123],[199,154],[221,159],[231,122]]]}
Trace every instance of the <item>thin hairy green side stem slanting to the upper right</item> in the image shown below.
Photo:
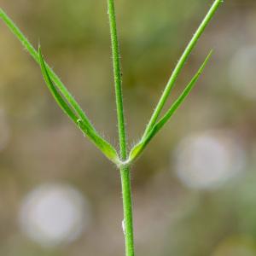
{"label": "thin hairy green side stem slanting to the upper right", "polygon": [[204,20],[202,20],[201,25],[198,27],[193,38],[190,40],[188,46],[184,50],[183,55],[177,62],[177,66],[174,68],[174,70],[172,72],[171,78],[169,79],[168,83],[166,84],[166,89],[163,91],[162,96],[160,97],[160,101],[158,102],[156,108],[154,109],[154,113],[148,122],[146,130],[143,134],[143,137],[147,136],[148,132],[153,128],[154,124],[156,123],[157,119],[159,118],[160,112],[164,108],[166,100],[167,100],[168,96],[170,95],[172,87],[174,86],[179,73],[182,71],[186,61],[189,58],[191,51],[195,48],[195,44],[197,43],[198,39],[201,38],[201,34],[204,32],[207,25],[212,20],[213,15],[216,13],[220,3],[222,3],[222,2],[223,2],[223,0],[215,0],[214,1],[211,9],[208,11]]}

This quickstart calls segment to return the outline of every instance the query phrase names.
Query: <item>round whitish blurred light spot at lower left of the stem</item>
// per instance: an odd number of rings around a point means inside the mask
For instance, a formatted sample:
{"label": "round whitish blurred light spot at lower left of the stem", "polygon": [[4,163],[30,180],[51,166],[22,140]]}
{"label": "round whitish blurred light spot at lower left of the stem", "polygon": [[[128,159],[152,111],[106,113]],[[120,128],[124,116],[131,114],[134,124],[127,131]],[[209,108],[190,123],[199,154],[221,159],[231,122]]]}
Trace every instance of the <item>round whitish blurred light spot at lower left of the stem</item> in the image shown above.
{"label": "round whitish blurred light spot at lower left of the stem", "polygon": [[81,235],[90,224],[89,205],[67,184],[44,184],[26,195],[19,220],[26,236],[51,247]]}

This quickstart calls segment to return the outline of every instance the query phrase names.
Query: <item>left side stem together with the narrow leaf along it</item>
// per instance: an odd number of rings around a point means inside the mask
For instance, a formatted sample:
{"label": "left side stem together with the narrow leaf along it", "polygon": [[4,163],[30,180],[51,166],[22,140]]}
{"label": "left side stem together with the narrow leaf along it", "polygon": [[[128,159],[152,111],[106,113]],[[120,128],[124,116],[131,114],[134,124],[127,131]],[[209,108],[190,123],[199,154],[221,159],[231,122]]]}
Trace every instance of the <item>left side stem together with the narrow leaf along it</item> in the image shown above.
{"label": "left side stem together with the narrow leaf along it", "polygon": [[40,50],[37,51],[34,49],[32,44],[20,31],[19,27],[15,25],[15,22],[11,20],[1,8],[0,20],[3,20],[3,22],[9,27],[10,31],[13,32],[15,37],[19,39],[20,43],[23,44],[29,54],[32,55],[32,58],[41,66],[44,80],[61,109],[67,113],[71,119],[73,119],[73,122],[84,132],[84,135],[89,137],[90,141],[95,143],[96,147],[102,150],[102,153],[105,154],[109,160],[112,160],[115,164],[119,164],[119,156],[113,146],[96,131],[94,126],[91,124],[90,119],[88,119],[82,108],[79,106],[79,103],[76,102],[71,93],[61,82],[61,79],[58,78],[49,65],[44,61]]}

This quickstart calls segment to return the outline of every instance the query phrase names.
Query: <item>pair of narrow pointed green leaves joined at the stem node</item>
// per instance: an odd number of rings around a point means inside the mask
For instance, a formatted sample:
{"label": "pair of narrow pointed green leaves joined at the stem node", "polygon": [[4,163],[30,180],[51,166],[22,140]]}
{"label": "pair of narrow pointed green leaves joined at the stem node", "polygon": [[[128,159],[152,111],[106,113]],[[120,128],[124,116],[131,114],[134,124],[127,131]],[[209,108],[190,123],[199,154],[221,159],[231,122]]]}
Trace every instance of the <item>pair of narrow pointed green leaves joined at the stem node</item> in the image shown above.
{"label": "pair of narrow pointed green leaves joined at the stem node", "polygon": [[[90,124],[89,119],[84,118],[84,116],[78,116],[73,110],[75,110],[75,106],[73,105],[73,101],[69,101],[69,98],[66,98],[67,102],[73,107],[73,109],[65,102],[65,100],[62,98],[61,94],[58,92],[58,90],[55,88],[54,83],[50,79],[48,68],[44,62],[43,55],[41,53],[41,48],[39,46],[38,48],[38,54],[39,54],[39,61],[41,70],[44,76],[45,83],[47,84],[51,94],[54,96],[55,101],[59,104],[61,109],[64,113],[66,113],[70,119],[73,120],[73,122],[79,127],[81,131],[84,132],[84,135],[90,138],[90,140],[95,143],[96,147],[99,148],[103,154],[105,154],[109,160],[113,161],[116,165],[125,164],[129,165],[134,160],[136,160],[140,154],[142,154],[143,149],[146,148],[148,143],[151,141],[151,139],[157,134],[158,131],[166,124],[166,122],[172,117],[172,114],[175,113],[177,108],[183,103],[186,96],[189,95],[189,92],[193,89],[195,86],[196,81],[201,76],[202,71],[207,65],[207,61],[209,61],[209,58],[212,55],[212,51],[209,55],[207,55],[206,60],[201,65],[198,72],[195,74],[194,78],[191,79],[189,84],[186,86],[185,90],[183,90],[183,93],[177,98],[177,101],[172,104],[172,107],[167,111],[167,113],[164,115],[162,119],[158,123],[156,123],[150,131],[148,131],[141,139],[137,145],[131,149],[131,152],[129,154],[129,159],[125,160],[125,162],[122,162],[119,160],[119,156],[117,154],[117,151],[113,148],[113,146],[108,143],[106,140],[104,140],[95,130],[95,128]],[[76,103],[77,104],[77,103]]]}

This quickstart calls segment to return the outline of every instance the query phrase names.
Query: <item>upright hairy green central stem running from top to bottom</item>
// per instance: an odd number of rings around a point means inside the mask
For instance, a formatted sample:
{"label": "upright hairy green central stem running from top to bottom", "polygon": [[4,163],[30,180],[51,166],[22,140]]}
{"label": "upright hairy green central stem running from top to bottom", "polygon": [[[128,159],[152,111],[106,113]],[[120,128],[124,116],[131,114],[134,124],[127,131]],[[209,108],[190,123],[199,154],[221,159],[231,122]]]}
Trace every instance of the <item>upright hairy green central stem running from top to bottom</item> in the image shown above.
{"label": "upright hairy green central stem running from top to bottom", "polygon": [[[113,77],[116,96],[116,107],[119,127],[119,150],[120,159],[125,161],[127,157],[125,117],[122,95],[122,79],[119,61],[119,42],[116,28],[116,18],[113,0],[108,0],[108,16],[113,54]],[[132,223],[132,202],[131,202],[131,173],[129,166],[120,166],[122,183],[123,207],[124,207],[124,234],[126,256],[134,256],[133,223]]]}

